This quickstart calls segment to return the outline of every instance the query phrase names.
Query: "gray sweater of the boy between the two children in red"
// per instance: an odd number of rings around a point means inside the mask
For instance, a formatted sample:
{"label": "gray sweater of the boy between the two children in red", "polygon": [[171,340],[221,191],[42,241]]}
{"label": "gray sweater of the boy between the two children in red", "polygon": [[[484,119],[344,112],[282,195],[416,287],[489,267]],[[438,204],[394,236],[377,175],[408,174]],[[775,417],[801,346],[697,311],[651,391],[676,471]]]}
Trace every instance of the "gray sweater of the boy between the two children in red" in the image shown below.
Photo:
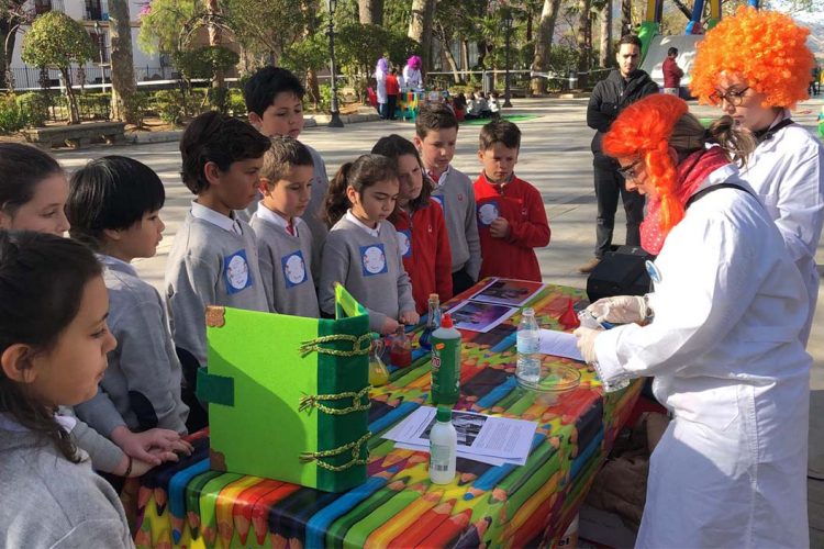
{"label": "gray sweater of the boy between the two children in red", "polygon": [[472,181],[466,173],[449,166],[445,181],[432,191],[432,198],[444,209],[452,248],[452,271],[466,268],[467,273],[478,280],[481,254]]}

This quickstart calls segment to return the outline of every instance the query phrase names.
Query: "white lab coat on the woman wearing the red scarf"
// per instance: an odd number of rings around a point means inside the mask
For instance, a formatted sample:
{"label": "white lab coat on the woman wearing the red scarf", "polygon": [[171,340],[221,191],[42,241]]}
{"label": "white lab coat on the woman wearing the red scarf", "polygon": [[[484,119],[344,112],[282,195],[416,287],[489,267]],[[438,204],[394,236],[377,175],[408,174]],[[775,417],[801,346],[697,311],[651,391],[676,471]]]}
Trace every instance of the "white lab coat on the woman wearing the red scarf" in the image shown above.
{"label": "white lab coat on the woman wearing the red scarf", "polygon": [[[730,165],[702,188],[725,180],[746,186]],[[654,321],[594,346],[603,379],[654,376],[673,415],[650,458],[637,547],[806,547],[808,300],[775,223],[755,198],[716,190],[655,267]]]}

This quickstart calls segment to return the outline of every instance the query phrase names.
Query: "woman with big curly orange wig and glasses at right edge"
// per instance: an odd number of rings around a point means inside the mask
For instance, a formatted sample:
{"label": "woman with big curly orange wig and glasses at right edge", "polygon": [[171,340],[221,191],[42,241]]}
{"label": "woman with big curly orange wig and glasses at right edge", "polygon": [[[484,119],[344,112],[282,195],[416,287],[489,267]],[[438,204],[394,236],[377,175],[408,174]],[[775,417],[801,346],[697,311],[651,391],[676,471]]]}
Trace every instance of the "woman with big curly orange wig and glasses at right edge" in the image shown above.
{"label": "woman with big curly orange wig and glasses at right edge", "polygon": [[789,111],[808,98],[814,65],[808,34],[782,13],[742,9],[706,33],[691,83],[703,102],[717,104],[759,141],[742,178],[767,206],[801,271],[810,301],[804,344],[819,299],[815,250],[824,222],[824,149]]}

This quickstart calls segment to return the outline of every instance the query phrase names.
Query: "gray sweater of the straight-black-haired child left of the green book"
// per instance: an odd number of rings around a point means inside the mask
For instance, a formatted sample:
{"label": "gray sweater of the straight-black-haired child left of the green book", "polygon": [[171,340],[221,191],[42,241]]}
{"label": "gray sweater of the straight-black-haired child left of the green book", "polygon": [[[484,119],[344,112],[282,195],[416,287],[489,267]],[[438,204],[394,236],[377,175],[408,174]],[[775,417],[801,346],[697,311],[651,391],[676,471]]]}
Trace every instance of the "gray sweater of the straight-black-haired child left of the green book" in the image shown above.
{"label": "gray sweater of the straight-black-haired child left of the green book", "polygon": [[108,355],[97,396],[75,412],[104,436],[121,425],[133,432],[160,427],[185,435],[189,407],[180,399],[180,361],[160,295],[131,265],[99,257],[109,290],[107,322],[118,347]]}

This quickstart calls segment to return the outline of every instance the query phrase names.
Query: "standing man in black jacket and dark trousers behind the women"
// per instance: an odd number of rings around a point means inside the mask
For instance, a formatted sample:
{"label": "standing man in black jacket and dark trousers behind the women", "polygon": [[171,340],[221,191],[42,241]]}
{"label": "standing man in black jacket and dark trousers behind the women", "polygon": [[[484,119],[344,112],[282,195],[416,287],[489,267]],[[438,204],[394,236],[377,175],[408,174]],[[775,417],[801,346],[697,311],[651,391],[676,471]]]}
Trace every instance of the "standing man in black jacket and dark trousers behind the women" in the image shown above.
{"label": "standing man in black jacket and dark trousers behind the women", "polygon": [[644,219],[644,197],[628,192],[624,178],[617,171],[619,164],[601,153],[601,139],[610,131],[612,121],[627,105],[658,92],[658,86],[649,75],[638,69],[641,61],[641,41],[637,36],[626,35],[619,42],[615,54],[619,68],[595,85],[587,105],[587,125],[597,130],[592,138],[592,167],[595,176],[595,198],[598,200],[598,226],[595,229],[595,257],[582,265],[580,272],[590,272],[601,261],[612,244],[612,232],[615,226],[617,199],[621,197],[626,212],[626,244],[641,245],[641,222]]}

